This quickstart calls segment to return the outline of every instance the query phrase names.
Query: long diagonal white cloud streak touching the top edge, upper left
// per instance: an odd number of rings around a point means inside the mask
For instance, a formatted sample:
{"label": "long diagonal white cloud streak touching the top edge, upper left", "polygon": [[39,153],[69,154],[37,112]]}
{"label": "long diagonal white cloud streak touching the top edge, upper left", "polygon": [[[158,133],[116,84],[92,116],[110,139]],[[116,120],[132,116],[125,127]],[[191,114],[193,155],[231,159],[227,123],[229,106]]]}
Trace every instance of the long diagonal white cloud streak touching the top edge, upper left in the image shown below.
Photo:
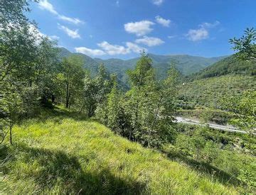
{"label": "long diagonal white cloud streak touching the top edge, upper left", "polygon": [[74,23],[74,24],[84,23],[83,21],[81,21],[78,18],[70,18],[68,16],[61,15],[60,13],[58,13],[58,11],[56,11],[54,9],[53,5],[50,4],[48,2],[48,0],[41,0],[41,1],[39,1],[38,2],[38,6],[39,6],[39,8],[41,8],[43,10],[47,10],[47,11],[50,11],[50,13],[55,14],[56,16],[58,16],[58,18],[60,18],[60,20],[68,21],[68,22]]}

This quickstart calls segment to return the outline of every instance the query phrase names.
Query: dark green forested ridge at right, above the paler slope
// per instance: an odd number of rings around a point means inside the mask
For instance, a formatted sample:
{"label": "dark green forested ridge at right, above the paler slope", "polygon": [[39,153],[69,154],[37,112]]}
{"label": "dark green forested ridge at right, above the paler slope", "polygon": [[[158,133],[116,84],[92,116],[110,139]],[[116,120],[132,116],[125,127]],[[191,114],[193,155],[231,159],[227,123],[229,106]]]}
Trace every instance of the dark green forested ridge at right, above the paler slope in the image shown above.
{"label": "dark green forested ridge at right, above the paler slope", "polygon": [[256,75],[256,62],[239,60],[235,55],[226,57],[213,65],[188,76],[189,79],[219,77],[226,74]]}

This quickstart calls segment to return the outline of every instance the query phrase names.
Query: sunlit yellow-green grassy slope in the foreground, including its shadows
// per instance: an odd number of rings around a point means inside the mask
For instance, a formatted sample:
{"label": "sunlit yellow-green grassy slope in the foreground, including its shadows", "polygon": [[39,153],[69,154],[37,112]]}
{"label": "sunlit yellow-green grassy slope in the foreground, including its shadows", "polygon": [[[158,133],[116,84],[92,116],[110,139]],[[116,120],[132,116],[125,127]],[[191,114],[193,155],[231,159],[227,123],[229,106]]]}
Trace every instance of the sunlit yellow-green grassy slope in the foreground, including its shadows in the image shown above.
{"label": "sunlit yellow-green grassy slope in the foreground, including its shadows", "polygon": [[15,147],[6,143],[0,150],[1,158],[11,154],[0,171],[0,194],[237,193],[233,186],[63,110],[16,126],[14,140]]}

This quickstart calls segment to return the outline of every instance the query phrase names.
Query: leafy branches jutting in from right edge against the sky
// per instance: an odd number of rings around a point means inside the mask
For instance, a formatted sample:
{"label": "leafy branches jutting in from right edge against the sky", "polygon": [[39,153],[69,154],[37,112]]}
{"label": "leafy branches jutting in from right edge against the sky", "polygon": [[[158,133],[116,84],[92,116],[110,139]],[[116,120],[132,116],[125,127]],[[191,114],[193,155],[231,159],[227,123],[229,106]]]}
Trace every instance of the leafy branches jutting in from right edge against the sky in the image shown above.
{"label": "leafy branches jutting in from right edge against the sky", "polygon": [[256,60],[256,30],[255,28],[246,28],[245,35],[241,38],[232,38],[233,50],[238,51],[236,55],[242,60]]}

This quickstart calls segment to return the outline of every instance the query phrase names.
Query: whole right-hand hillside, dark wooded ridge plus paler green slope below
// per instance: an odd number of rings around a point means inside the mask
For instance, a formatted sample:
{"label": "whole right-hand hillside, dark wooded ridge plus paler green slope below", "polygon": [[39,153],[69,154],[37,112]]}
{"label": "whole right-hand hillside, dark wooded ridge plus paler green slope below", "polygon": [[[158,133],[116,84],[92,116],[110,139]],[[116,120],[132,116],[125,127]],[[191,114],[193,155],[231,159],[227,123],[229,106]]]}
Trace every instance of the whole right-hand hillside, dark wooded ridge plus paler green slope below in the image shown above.
{"label": "whole right-hand hillside, dark wooded ridge plus paler green slope below", "polygon": [[240,96],[242,91],[256,90],[256,62],[232,55],[188,75],[179,89],[178,107],[218,108],[223,96]]}

